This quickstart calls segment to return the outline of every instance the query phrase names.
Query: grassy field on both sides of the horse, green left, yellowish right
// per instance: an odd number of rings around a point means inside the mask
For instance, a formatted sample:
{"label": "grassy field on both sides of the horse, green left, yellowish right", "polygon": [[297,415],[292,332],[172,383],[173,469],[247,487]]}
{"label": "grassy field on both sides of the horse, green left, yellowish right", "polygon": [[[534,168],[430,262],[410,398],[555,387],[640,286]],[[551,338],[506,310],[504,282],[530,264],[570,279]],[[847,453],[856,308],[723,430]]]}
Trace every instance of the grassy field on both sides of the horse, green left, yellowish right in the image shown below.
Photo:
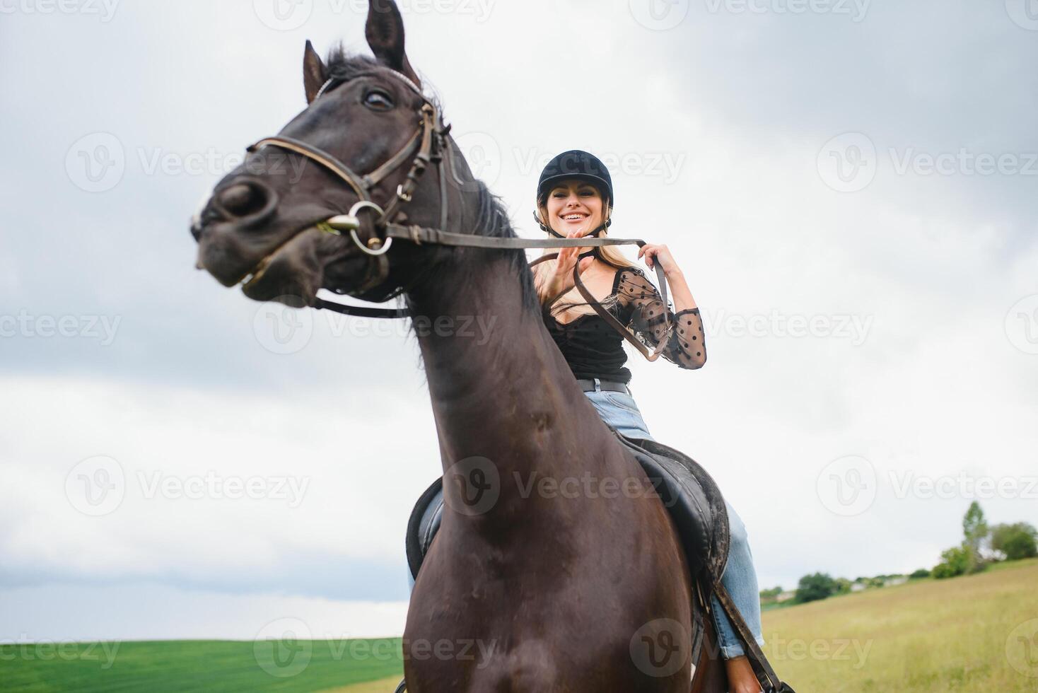
{"label": "grassy field on both sides of the horse, green left, yellowish right", "polygon": [[[1038,560],[771,610],[764,635],[797,693],[1038,693]],[[0,645],[0,690],[391,693],[403,669],[399,639],[276,644]]]}

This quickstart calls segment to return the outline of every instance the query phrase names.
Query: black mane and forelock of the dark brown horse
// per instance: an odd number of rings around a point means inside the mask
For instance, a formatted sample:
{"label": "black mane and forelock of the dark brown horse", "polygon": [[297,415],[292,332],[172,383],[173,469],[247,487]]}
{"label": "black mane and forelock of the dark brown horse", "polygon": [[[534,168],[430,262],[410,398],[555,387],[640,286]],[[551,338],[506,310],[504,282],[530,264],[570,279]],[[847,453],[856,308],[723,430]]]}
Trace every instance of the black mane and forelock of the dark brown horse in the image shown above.
{"label": "black mane and forelock of the dark brown horse", "polygon": [[[373,70],[386,70],[385,65],[375,58],[359,53],[350,53],[346,47],[339,43],[328,52],[325,63],[327,77],[336,81],[349,81],[360,75],[368,74]],[[442,111],[442,102],[438,94],[430,98]],[[454,147],[456,157],[464,159],[457,143],[448,138],[448,146]],[[457,173],[457,171],[455,171]],[[512,220],[509,217],[508,209],[501,198],[490,192],[490,189],[483,181],[473,179],[475,188],[473,191],[475,199],[475,221],[471,232],[479,235],[487,235],[500,239],[515,239],[519,234],[515,232]],[[488,253],[504,253],[509,258],[509,267],[519,277],[519,287],[522,292],[522,302],[524,307],[530,310],[540,311],[541,301],[537,295],[537,287],[534,285],[534,273],[530,272],[526,253],[522,250],[489,250],[483,248],[455,249],[456,255],[464,256],[465,259],[475,259],[476,257],[487,257]],[[479,255],[476,255],[479,253]]]}

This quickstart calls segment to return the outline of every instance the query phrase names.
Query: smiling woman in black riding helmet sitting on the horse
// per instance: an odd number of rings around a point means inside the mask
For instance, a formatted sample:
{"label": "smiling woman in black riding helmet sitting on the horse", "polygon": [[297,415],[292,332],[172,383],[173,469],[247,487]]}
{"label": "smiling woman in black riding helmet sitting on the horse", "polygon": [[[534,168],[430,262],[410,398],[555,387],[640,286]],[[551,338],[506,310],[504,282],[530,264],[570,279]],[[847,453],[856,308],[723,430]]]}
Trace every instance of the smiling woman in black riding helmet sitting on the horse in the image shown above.
{"label": "smiling woman in black riding helmet sitting on the horse", "polygon": [[[538,223],[556,237],[601,235],[609,226],[612,202],[612,179],[602,162],[586,151],[567,151],[555,157],[541,174]],[[614,247],[582,252],[586,250],[564,249],[556,260],[535,268],[545,324],[599,416],[629,438],[651,439],[628,388],[631,372],[624,367],[627,356],[623,337],[577,293],[573,286],[573,268],[579,262],[580,280],[592,296],[648,345],[655,348],[660,339],[666,338],[664,358],[682,368],[700,368],[706,362],[699,308],[666,246],[646,245],[638,251],[638,257],[651,269],[657,265],[662,268],[676,312],[663,304],[641,270]],[[668,337],[664,334],[667,316],[674,325]],[[757,574],[746,530],[731,505],[728,516],[732,540],[722,582],[758,643],[763,645]],[[742,643],[716,598],[711,611],[732,691],[759,693],[761,687]]]}

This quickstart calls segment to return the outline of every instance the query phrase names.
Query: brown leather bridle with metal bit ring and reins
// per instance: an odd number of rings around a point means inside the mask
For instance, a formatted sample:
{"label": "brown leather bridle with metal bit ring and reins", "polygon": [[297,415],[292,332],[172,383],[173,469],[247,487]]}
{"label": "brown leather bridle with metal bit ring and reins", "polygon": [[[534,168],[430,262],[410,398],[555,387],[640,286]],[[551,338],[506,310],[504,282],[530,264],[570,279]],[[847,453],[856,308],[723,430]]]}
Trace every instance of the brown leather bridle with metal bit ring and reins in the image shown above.
{"label": "brown leather bridle with metal bit ring and reins", "polygon": [[[443,114],[439,107],[433,103],[429,98],[427,98],[421,89],[414,84],[410,79],[395,71],[387,71],[389,74],[399,78],[406,84],[413,92],[417,93],[421,98],[421,107],[418,109],[419,122],[418,128],[414,135],[407,141],[407,143],[392,157],[390,157],[385,163],[380,165],[374,171],[367,174],[359,174],[351,169],[349,166],[340,162],[331,154],[308,144],[298,139],[284,136],[274,136],[265,137],[255,144],[248,147],[249,153],[257,151],[265,146],[275,146],[280,149],[285,149],[292,151],[301,157],[309,159],[310,161],[323,166],[330,172],[334,173],[339,179],[342,179],[348,187],[350,187],[353,192],[357,194],[358,201],[350,209],[348,214],[336,215],[325,221],[316,224],[316,227],[326,233],[331,233],[334,235],[342,235],[344,231],[349,232],[350,239],[365,255],[367,255],[371,260],[371,271],[365,281],[356,289],[353,289],[350,295],[363,294],[365,290],[378,286],[387,278],[389,274],[389,261],[386,257],[386,253],[392,247],[393,241],[405,241],[413,243],[417,246],[421,245],[438,245],[438,246],[453,246],[461,248],[489,248],[496,250],[527,250],[534,248],[601,248],[604,246],[622,246],[622,245],[636,245],[641,247],[646,245],[645,241],[638,239],[602,239],[602,238],[590,238],[584,237],[580,239],[568,239],[562,237],[559,233],[554,231],[550,226],[543,224],[539,221],[542,228],[545,228],[548,232],[555,235],[554,239],[543,239],[543,240],[527,240],[519,238],[490,238],[485,235],[475,235],[471,233],[455,233],[447,231],[447,219],[449,212],[449,198],[447,190],[447,174],[455,176],[457,181],[457,175],[453,165],[453,150],[449,146],[448,135],[450,133],[450,126],[444,124]],[[380,73],[382,74],[382,73]],[[350,79],[356,79],[358,77],[370,77],[374,76],[374,73],[365,73],[361,75],[353,75]],[[317,92],[313,98],[316,102],[322,95],[338,86],[339,84],[346,82],[346,79],[332,78],[324,83],[321,89]],[[417,150],[415,151],[415,147]],[[373,198],[374,191],[378,188],[379,184],[389,177],[392,173],[400,170],[400,168],[406,165],[408,158],[411,157],[411,153],[414,151],[414,157],[411,160],[411,167],[407,172],[407,177],[397,187],[395,195],[384,207],[375,202]],[[418,187],[418,182],[421,178],[426,170],[435,165],[439,174],[439,197],[440,197],[440,225],[438,228],[430,228],[426,226],[420,226],[417,224],[401,224],[393,221],[394,218],[401,212],[401,209],[409,203],[414,196],[414,192]],[[357,231],[361,228],[361,223],[358,215],[363,211],[371,211],[379,215],[378,219],[374,222],[374,233],[366,241],[361,241]],[[595,237],[602,230],[609,226],[609,222],[602,224],[599,228],[595,229],[591,237]],[[381,233],[381,235],[380,235]],[[558,257],[558,253],[548,253],[537,258],[529,264],[529,267],[534,267],[541,262],[554,259]],[[663,275],[662,269],[659,264],[656,264],[656,276],[659,280],[660,296],[662,298],[663,304],[667,305],[667,290],[666,290],[666,278]],[[613,329],[619,331],[621,335],[627,339],[643,356],[645,356],[650,361],[655,361],[662,354],[663,350],[667,345],[670,340],[670,335],[673,330],[673,325],[670,322],[670,317],[666,317],[665,332],[664,336],[659,340],[657,348],[653,351],[650,350],[646,344],[637,339],[616,316],[612,315],[608,310],[605,309],[588,290],[588,287],[580,281],[579,264],[573,268],[573,280],[574,285],[580,293],[581,297],[586,301],[595,312],[599,314],[607,324],[609,324]],[[389,300],[404,293],[406,288],[400,288],[393,294],[386,297],[385,300]],[[548,302],[548,306],[555,303],[561,299],[563,294],[553,297],[551,301]],[[317,299],[315,303],[315,308],[333,310],[345,315],[355,315],[358,317],[381,317],[381,318],[400,318],[409,317],[410,311],[406,309],[390,309],[390,308],[368,308],[365,306],[351,306],[342,303],[335,303],[333,301],[326,301],[324,299]],[[666,312],[664,311],[664,315]]]}

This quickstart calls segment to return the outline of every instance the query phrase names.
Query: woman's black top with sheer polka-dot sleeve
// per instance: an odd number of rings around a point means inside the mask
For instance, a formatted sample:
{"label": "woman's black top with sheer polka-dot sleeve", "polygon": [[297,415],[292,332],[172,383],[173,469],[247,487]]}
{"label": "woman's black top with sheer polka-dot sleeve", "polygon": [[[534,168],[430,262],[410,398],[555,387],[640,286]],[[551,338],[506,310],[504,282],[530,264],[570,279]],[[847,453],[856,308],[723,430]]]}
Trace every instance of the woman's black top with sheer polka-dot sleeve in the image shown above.
{"label": "woman's black top with sheer polka-dot sleeve", "polygon": [[[703,320],[699,308],[675,314],[670,306],[663,305],[656,286],[637,268],[618,270],[612,293],[601,303],[651,349],[656,349],[663,338],[668,314],[674,328],[663,350],[663,358],[682,368],[700,368],[706,362]],[[624,338],[608,323],[596,313],[580,315],[565,325],[555,320],[559,312],[575,305],[586,304],[564,304],[559,301],[550,310],[544,309],[544,324],[573,375],[578,379],[598,378],[629,383],[631,371],[624,367],[627,362]]]}

